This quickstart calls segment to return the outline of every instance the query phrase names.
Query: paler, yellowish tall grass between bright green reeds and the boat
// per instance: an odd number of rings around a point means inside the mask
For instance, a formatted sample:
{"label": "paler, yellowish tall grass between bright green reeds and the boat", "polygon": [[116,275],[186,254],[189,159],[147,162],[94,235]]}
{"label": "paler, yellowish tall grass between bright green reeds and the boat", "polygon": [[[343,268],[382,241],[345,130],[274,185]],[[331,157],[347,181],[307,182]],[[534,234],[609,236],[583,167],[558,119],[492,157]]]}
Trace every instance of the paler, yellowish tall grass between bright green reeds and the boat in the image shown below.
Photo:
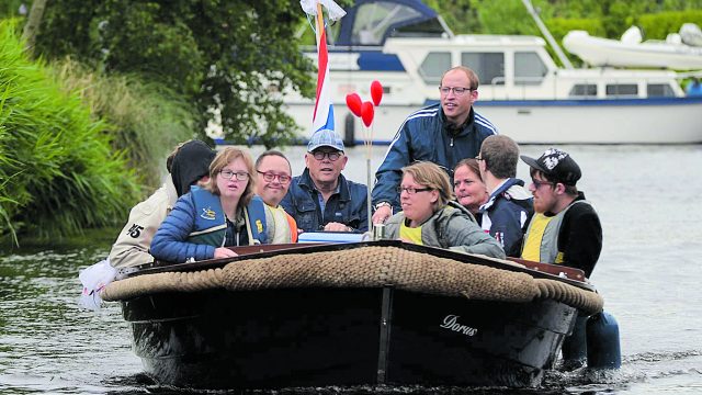
{"label": "paler, yellowish tall grass between bright green reeds and the boat", "polygon": [[139,181],[160,184],[166,156],[180,142],[194,138],[192,105],[173,90],[158,82],[145,82],[134,75],[105,75],[72,58],[52,65],[54,75],[67,91],[79,92],[93,115],[114,127],[112,146],[124,150]]}

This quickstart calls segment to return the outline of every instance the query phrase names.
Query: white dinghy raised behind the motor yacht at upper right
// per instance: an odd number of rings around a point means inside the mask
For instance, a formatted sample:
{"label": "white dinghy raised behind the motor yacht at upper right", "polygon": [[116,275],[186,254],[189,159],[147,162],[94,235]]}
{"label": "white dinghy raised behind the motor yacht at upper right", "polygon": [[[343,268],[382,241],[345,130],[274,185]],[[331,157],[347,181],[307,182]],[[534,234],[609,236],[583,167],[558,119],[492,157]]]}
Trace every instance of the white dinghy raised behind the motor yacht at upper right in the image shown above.
{"label": "white dinghy raised behind the motor yacht at upper right", "polygon": [[585,31],[573,31],[563,37],[563,46],[590,66],[702,69],[702,47],[683,44],[678,33],[669,34],[665,41],[642,42],[636,26],[630,27],[622,40],[593,37]]}

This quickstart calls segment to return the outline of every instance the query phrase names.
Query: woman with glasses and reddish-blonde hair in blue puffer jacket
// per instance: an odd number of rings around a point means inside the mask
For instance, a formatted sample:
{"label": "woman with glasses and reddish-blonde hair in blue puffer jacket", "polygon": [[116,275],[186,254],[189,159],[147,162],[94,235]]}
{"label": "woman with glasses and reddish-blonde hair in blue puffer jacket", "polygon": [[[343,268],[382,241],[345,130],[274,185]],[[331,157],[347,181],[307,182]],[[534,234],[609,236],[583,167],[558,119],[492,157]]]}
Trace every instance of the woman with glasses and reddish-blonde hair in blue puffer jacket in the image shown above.
{"label": "woman with glasses and reddish-blonde hair in blue puffer jacket", "polygon": [[226,247],[267,244],[265,208],[254,195],[253,160],[234,147],[219,151],[210,181],[181,196],[154,236],[151,255],[184,262],[235,257]]}

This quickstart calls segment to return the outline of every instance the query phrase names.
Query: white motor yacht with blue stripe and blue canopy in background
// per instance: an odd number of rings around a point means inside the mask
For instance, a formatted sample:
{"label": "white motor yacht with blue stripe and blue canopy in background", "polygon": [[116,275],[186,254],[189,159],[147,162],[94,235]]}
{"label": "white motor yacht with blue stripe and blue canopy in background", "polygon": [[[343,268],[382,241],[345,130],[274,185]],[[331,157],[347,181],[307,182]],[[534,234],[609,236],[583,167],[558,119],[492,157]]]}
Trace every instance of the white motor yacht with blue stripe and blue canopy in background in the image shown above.
{"label": "white motor yacht with blue stripe and blue canopy in background", "polygon": [[[558,67],[542,37],[454,35],[419,0],[358,0],[329,29],[327,83],[347,145],[389,144],[408,115],[439,101],[442,74],[458,65],[480,78],[475,110],[518,143],[702,143],[702,99],[686,98],[671,70]],[[314,48],[306,54],[316,61]],[[373,80],[384,94],[366,128],[344,103],[354,92],[370,100]],[[284,102],[308,138],[314,100],[291,92]]]}

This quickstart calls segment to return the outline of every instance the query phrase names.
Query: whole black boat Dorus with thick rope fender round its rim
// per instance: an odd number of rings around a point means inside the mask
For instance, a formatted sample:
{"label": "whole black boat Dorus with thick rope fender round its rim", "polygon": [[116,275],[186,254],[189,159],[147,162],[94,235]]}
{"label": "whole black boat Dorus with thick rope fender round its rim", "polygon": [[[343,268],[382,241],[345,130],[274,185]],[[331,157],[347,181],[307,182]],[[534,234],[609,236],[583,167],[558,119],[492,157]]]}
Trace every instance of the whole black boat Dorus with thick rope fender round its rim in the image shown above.
{"label": "whole black boat Dorus with thick rope fender round its rim", "polygon": [[238,252],[123,271],[102,291],[158,382],[536,386],[578,314],[602,307],[575,269],[396,240]]}

